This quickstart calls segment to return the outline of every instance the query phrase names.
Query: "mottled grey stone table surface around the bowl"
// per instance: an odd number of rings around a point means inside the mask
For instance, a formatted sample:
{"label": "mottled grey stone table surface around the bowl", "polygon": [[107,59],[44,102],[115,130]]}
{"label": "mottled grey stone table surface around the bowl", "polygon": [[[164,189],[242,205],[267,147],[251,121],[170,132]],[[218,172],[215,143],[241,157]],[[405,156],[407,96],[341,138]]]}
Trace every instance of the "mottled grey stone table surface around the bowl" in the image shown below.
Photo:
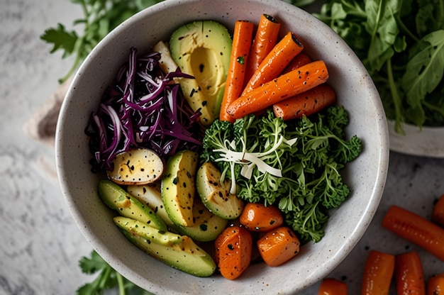
{"label": "mottled grey stone table surface around the bowl", "polygon": [[[78,267],[92,247],[62,197],[54,149],[30,138],[23,126],[72,65],[71,58],[50,55],[50,45],[39,36],[57,23],[71,25],[82,11],[68,0],[0,0],[0,5],[0,294],[74,294],[93,279]],[[359,294],[370,250],[417,250],[426,279],[444,272],[444,262],[381,226],[392,204],[430,218],[433,202],[444,194],[443,179],[444,159],[392,152],[379,210],[329,277],[343,279],[349,294]],[[317,294],[318,285],[300,294]]]}

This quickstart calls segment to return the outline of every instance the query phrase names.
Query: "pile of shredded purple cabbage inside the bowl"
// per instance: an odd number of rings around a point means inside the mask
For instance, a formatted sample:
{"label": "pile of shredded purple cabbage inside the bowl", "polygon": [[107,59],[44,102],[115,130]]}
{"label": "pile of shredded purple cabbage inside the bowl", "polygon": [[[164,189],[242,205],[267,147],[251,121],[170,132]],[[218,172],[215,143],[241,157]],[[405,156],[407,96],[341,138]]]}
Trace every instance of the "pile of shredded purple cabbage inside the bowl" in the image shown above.
{"label": "pile of shredded purple cabbage inside the bowl", "polygon": [[204,130],[200,111],[192,111],[174,77],[193,77],[179,68],[165,74],[160,53],[137,56],[118,70],[113,86],[104,91],[99,108],[91,113],[86,133],[94,157],[94,172],[113,169],[112,160],[131,147],[147,147],[160,156],[177,150],[199,150]]}

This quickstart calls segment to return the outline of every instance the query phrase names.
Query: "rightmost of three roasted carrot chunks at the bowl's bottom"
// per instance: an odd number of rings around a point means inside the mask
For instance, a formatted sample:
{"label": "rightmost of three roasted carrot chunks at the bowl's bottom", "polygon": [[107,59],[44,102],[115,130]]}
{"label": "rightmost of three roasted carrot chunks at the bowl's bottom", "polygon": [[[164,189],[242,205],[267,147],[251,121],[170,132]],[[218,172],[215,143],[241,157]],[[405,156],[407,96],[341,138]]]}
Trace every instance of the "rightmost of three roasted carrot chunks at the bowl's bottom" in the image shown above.
{"label": "rightmost of three roasted carrot chunks at the bowl's bottom", "polygon": [[267,231],[257,240],[257,248],[270,267],[283,265],[299,253],[299,239],[291,228],[280,226]]}

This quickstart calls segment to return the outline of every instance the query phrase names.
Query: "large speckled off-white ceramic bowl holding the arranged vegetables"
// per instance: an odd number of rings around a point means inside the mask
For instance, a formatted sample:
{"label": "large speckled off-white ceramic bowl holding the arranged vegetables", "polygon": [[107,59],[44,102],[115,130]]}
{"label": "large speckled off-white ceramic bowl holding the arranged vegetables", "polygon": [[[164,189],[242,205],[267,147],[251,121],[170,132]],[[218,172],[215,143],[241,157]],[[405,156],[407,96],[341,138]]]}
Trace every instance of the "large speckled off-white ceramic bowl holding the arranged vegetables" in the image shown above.
{"label": "large speckled off-white ceramic bowl holding the arranged vegetables", "polygon": [[[113,212],[97,195],[99,179],[90,172],[84,128],[132,46],[148,50],[189,21],[212,19],[232,29],[235,20],[257,23],[262,13],[282,21],[282,33],[293,30],[311,56],[328,65],[338,103],[350,113],[348,135],[358,135],[363,143],[362,154],[344,174],[352,193],[331,212],[321,242],[304,245],[287,264],[257,264],[235,281],[217,274],[193,277],[133,247],[114,226]],[[295,294],[331,272],[365,233],[384,189],[389,137],[379,95],[365,68],[338,35],[309,13],[279,0],[167,0],[113,30],[87,57],[62,105],[56,153],[62,191],[80,230],[111,267],[135,284],[155,294]]]}

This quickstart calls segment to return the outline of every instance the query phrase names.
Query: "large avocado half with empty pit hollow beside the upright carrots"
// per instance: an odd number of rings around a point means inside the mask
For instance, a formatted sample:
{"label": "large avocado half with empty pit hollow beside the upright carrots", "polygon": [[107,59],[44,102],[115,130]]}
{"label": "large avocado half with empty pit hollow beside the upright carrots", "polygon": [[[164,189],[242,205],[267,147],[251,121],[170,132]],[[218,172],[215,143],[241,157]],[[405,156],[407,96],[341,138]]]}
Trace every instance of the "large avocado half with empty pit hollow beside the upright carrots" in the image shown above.
{"label": "large avocado half with empty pit hollow beside the upright carrots", "polygon": [[170,37],[173,60],[194,77],[180,78],[179,84],[192,109],[200,109],[204,126],[219,116],[232,43],[227,28],[216,21],[187,23]]}

